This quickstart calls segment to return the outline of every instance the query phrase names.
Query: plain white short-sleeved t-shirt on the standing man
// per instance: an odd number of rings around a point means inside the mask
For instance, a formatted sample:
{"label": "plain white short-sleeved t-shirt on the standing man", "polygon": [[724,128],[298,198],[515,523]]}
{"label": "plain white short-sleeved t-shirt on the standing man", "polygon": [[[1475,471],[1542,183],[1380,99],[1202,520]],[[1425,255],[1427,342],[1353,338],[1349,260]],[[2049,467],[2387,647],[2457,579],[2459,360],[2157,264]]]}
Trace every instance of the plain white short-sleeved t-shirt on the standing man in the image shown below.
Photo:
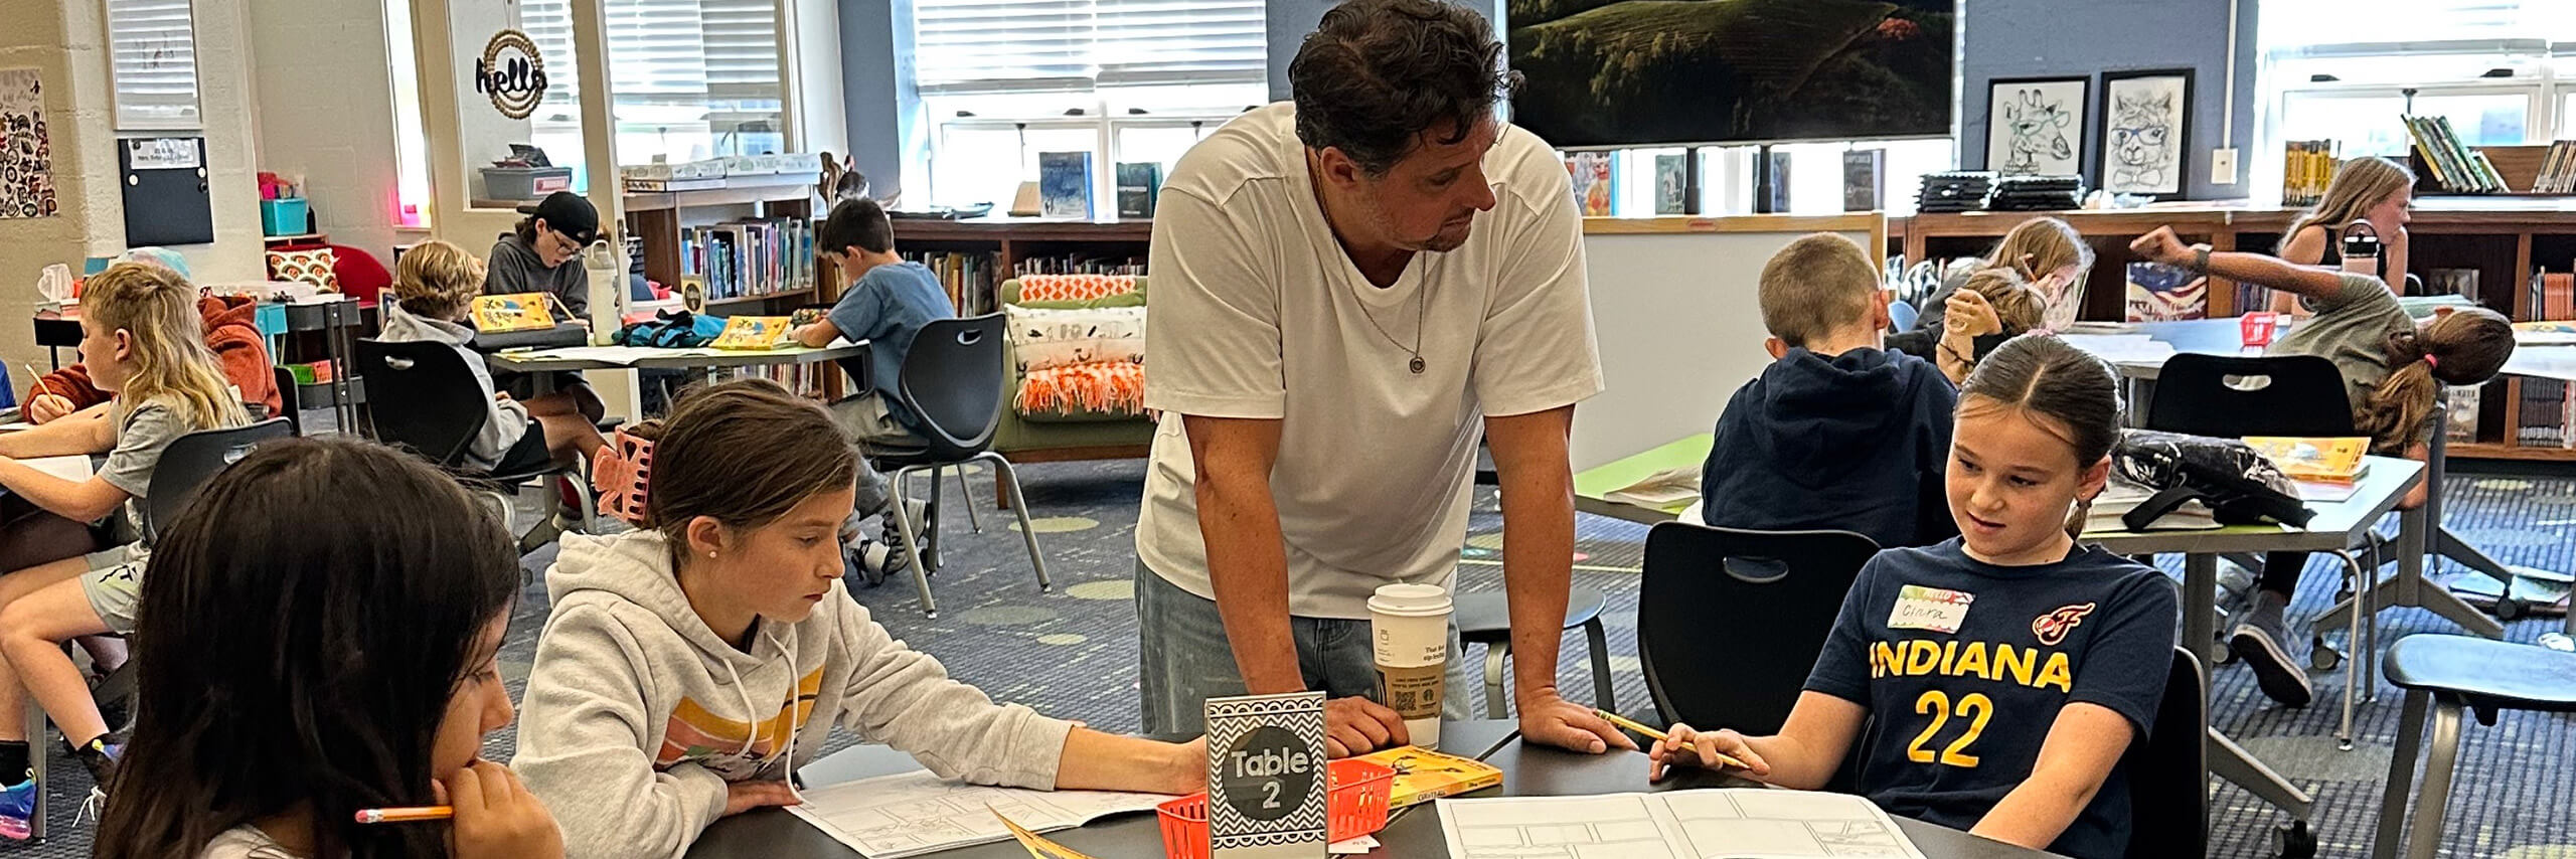
{"label": "plain white short-sleeved t-shirt on the standing man", "polygon": [[1291,615],[1368,617],[1381,584],[1450,584],[1484,417],[1602,391],[1564,162],[1504,126],[1484,172],[1494,208],[1466,244],[1417,252],[1378,288],[1324,224],[1293,103],[1180,159],[1146,293],[1144,401],[1162,409],[1136,522],[1146,568],[1213,599],[1182,414],[1252,417],[1280,419],[1270,494]]}

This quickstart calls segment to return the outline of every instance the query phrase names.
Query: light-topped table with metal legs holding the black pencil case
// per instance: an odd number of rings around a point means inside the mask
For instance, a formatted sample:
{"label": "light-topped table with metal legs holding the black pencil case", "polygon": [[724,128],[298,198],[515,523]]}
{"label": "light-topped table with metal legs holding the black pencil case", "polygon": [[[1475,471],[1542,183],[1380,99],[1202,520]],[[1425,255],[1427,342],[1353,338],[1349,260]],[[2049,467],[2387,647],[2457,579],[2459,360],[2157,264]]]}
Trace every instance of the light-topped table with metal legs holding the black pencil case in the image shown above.
{"label": "light-topped table with metal legs holding the black pencil case", "polygon": [[[2352,496],[2344,502],[2308,502],[2316,512],[2306,527],[2287,525],[2231,525],[2218,530],[2094,530],[2084,532],[2081,543],[2099,543],[2110,553],[2120,556],[2154,556],[2154,553],[2182,553],[2182,643],[2200,653],[2202,664],[2215,664],[2218,656],[2218,556],[2231,553],[2342,553],[2362,540],[2383,514],[2396,509],[2398,499],[2424,478],[2424,463],[2406,458],[2367,458],[2370,471],[2354,481]],[[2419,581],[2424,571],[2424,532],[2427,512],[2409,509],[2398,517],[2398,576],[2393,581]],[[2347,610],[2331,610],[2331,617],[2344,617]],[[2316,622],[2324,628],[2324,620]],[[2354,628],[2352,635],[2360,635]],[[2352,664],[2347,666],[2347,694],[2349,687],[2365,687],[2362,679],[2372,676],[2372,648],[2375,643],[2347,646],[2352,651]],[[2202,682],[2208,674],[2202,674]],[[2375,679],[2370,682],[2375,684]],[[2208,687],[2200,689],[2208,700]],[[2208,707],[2202,707],[2208,712]],[[2205,718],[2205,715],[2202,715]],[[2342,736],[2352,736],[2352,712],[2344,710],[2347,723]],[[2236,746],[2218,728],[2208,728],[2208,769],[2210,774],[2236,782],[2254,792],[2264,802],[2272,802],[2300,820],[2308,818],[2313,797],[2293,787],[2277,772],[2257,761],[2244,746]]]}

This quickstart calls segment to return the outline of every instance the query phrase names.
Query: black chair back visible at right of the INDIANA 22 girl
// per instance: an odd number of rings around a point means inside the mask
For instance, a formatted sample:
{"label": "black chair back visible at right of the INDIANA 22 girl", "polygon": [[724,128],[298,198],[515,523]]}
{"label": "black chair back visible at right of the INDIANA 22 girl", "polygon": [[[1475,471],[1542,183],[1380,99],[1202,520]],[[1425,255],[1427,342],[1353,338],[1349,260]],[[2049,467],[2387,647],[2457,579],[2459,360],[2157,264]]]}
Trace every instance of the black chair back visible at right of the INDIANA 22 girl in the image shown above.
{"label": "black chair back visible at right of the INDIANA 22 girl", "polygon": [[2130,743],[2128,764],[2128,856],[2208,856],[2210,792],[2202,756],[2200,658],[2174,648],[2164,674],[2164,702],[2156,728]]}

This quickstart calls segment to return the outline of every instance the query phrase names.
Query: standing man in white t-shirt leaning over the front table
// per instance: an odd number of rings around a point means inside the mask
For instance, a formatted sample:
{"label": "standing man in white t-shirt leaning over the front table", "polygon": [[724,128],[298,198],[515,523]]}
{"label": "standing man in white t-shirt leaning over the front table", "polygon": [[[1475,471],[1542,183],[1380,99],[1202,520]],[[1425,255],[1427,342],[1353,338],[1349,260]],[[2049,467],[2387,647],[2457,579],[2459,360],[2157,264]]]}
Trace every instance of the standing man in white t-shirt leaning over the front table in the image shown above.
{"label": "standing man in white t-shirt leaning over the front table", "polygon": [[[1633,748],[1556,692],[1574,404],[1600,393],[1582,219],[1556,152],[1494,118],[1502,44],[1443,0],[1350,0],[1293,103],[1190,149],[1154,216],[1136,522],[1146,730],[1216,694],[1324,689],[1329,751],[1406,741],[1368,597],[1450,586],[1479,435],[1502,473],[1520,730]],[[1463,712],[1455,635],[1453,715]]]}

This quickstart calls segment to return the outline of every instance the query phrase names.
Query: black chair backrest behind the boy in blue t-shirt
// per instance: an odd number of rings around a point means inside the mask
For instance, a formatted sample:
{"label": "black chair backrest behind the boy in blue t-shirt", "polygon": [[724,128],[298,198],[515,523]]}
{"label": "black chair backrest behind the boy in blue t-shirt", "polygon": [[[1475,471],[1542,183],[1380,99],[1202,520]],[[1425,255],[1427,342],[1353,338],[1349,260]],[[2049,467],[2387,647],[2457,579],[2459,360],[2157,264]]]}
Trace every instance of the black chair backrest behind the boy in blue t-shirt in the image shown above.
{"label": "black chair backrest behind the boy in blue t-shirt", "polygon": [[992,445],[1002,424],[1002,314],[933,319],[912,337],[902,381],[902,401],[922,422],[930,455],[963,460]]}

